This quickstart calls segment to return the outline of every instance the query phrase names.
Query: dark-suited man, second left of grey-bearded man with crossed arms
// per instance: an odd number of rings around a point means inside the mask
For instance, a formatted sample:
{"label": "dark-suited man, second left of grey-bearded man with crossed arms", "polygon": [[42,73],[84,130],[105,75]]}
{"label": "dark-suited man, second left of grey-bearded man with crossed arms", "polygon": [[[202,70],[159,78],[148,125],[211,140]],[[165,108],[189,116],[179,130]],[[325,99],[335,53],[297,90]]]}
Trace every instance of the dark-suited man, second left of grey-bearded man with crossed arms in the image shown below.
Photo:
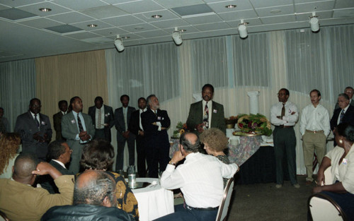
{"label": "dark-suited man, second left of grey-bearded man with crossed arms", "polygon": [[117,161],[115,163],[115,171],[123,169],[125,141],[127,141],[128,145],[129,165],[135,164],[135,135],[130,133],[128,129],[130,116],[135,111],[135,108],[128,107],[128,95],[120,96],[120,102],[122,102],[122,107],[115,109],[114,112],[115,129],[117,129]]}

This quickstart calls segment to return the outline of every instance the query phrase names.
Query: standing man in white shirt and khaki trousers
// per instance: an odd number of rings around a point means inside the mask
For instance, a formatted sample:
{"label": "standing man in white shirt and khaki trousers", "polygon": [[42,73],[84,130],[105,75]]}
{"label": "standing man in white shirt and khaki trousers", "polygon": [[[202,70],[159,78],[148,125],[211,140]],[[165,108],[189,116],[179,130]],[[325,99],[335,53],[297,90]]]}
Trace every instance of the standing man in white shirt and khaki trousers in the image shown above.
{"label": "standing man in white shirt and khaki trousers", "polygon": [[307,186],[311,185],[312,181],[314,181],[312,178],[312,174],[314,173],[312,170],[314,151],[316,151],[317,161],[321,165],[322,158],[326,154],[326,139],[331,131],[329,126],[329,111],[319,104],[321,92],[314,89],[309,95],[312,104],[302,109],[300,121]]}

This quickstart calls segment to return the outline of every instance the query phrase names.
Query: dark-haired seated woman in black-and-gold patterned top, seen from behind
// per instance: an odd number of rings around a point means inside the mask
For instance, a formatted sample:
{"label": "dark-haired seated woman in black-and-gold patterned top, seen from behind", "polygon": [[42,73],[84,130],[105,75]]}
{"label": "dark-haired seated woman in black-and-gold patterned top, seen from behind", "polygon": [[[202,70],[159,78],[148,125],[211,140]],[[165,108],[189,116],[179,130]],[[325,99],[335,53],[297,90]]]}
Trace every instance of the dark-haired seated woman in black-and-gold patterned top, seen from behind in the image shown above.
{"label": "dark-haired seated woman in black-and-gold patterned top, seen from behind", "polygon": [[117,207],[139,220],[137,199],[132,190],[127,186],[124,177],[115,172],[110,172],[114,161],[113,146],[103,139],[93,140],[85,145],[82,150],[80,165],[84,169],[98,169],[107,172],[116,183]]}

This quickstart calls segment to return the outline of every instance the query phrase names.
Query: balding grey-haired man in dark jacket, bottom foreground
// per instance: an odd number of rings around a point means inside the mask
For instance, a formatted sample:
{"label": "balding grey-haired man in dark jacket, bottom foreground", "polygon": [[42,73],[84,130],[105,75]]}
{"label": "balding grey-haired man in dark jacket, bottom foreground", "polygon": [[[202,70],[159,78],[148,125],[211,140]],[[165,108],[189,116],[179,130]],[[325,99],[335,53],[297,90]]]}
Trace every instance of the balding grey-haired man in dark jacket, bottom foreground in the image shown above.
{"label": "balding grey-haired man in dark jacket, bottom foreground", "polygon": [[116,207],[115,181],[100,170],[87,170],[75,183],[74,205],[55,206],[41,220],[117,220],[133,217]]}

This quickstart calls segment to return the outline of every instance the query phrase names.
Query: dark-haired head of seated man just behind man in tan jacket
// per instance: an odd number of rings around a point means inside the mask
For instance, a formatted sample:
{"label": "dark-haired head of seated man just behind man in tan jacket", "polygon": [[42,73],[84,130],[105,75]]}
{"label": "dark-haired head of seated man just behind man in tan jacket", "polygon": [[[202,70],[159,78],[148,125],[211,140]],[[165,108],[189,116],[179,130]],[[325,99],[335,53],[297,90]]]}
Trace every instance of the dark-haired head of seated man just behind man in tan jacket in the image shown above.
{"label": "dark-haired head of seated man just behind man in tan jacket", "polygon": [[59,160],[66,165],[70,161],[71,155],[72,150],[70,150],[66,141],[53,141],[48,145],[48,160]]}

